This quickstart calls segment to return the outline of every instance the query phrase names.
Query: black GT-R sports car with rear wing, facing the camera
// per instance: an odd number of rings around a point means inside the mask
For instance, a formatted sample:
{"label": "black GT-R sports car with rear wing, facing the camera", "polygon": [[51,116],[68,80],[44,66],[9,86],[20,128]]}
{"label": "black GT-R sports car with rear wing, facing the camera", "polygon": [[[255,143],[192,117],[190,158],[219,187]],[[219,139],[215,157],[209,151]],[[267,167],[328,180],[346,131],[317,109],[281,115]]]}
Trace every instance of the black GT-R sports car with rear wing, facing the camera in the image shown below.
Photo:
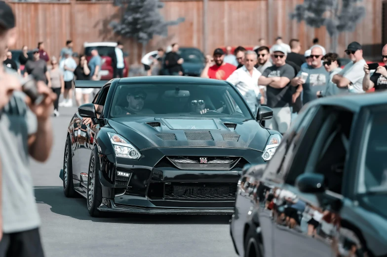
{"label": "black GT-R sports car with rear wing, facing the camera", "polygon": [[149,76],[75,84],[101,89],[70,122],[60,177],[65,195],[84,196],[92,216],[232,214],[243,166],[269,161],[282,138],[260,124],[272,110],[261,106],[254,115],[226,81]]}

